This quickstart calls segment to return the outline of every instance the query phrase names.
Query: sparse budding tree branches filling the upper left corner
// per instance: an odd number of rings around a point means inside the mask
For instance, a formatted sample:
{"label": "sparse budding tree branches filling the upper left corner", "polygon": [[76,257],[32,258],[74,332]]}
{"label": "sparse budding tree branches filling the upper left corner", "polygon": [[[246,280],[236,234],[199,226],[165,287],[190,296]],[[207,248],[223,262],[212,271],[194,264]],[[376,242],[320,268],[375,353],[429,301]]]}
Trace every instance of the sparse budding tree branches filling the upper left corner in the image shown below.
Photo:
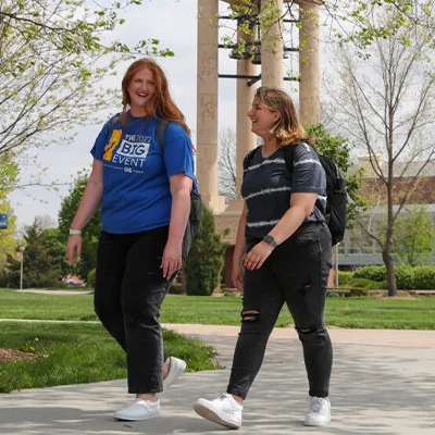
{"label": "sparse budding tree branches filling the upper left corner", "polygon": [[[72,128],[98,121],[99,110],[119,101],[100,85],[120,62],[142,54],[173,55],[160,50],[156,39],[130,47],[111,37],[124,22],[119,12],[130,4],[141,1],[1,2],[0,153],[71,141]],[[48,134],[54,129],[63,134]]]}

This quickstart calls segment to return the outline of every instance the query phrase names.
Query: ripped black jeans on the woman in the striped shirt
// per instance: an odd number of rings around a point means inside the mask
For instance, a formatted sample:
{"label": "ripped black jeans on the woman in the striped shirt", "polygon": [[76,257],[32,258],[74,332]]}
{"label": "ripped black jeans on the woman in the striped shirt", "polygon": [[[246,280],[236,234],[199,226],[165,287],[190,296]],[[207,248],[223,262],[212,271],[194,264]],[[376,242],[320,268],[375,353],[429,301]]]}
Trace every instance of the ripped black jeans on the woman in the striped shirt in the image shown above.
{"label": "ripped black jeans on the woman in the striped shirt", "polygon": [[263,362],[269,336],[286,302],[302,343],[309,394],[328,395],[333,349],[324,308],[331,260],[327,226],[310,223],[276,247],[262,268],[245,271],[241,330],[227,393],[244,399],[248,395]]}

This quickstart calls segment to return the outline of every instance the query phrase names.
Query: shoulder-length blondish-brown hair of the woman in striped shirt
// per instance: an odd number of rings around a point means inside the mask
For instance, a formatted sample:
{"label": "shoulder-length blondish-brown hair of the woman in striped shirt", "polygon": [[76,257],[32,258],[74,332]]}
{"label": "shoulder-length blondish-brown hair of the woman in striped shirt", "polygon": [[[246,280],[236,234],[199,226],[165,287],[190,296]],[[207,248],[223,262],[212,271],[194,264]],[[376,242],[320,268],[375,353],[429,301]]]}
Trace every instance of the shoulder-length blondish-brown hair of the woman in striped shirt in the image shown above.
{"label": "shoulder-length blondish-brown hair of the woman in striped shirt", "polygon": [[276,137],[279,147],[298,140],[312,142],[313,138],[309,137],[299,124],[291,98],[284,90],[261,86],[257,89],[254,98],[258,98],[272,112],[281,113],[279,120],[270,130],[271,135]]}

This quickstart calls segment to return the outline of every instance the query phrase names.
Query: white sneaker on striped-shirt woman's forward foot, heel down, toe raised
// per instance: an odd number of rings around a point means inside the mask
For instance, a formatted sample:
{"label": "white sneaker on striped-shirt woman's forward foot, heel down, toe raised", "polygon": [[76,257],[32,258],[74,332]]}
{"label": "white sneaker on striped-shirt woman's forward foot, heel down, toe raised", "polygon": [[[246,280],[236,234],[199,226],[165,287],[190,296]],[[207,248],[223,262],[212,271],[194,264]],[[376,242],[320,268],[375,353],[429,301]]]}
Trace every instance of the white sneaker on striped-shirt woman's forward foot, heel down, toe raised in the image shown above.
{"label": "white sneaker on striped-shirt woman's forward foot, heel down, toe raised", "polygon": [[239,428],[241,426],[244,406],[227,393],[222,393],[214,400],[198,399],[194,409],[198,415],[225,427]]}

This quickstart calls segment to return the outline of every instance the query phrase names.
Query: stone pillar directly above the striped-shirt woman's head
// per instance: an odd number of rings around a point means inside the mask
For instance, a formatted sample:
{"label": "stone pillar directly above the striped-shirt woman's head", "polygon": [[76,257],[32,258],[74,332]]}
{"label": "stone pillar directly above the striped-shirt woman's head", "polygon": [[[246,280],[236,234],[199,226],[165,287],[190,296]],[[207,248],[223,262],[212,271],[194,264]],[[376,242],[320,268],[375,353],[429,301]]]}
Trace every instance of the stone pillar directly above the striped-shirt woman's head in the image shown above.
{"label": "stone pillar directly above the striped-shirt woman's head", "polygon": [[[283,0],[261,0],[261,11],[268,8],[283,10]],[[283,88],[283,34],[282,23],[276,22],[261,29],[261,84]]]}

